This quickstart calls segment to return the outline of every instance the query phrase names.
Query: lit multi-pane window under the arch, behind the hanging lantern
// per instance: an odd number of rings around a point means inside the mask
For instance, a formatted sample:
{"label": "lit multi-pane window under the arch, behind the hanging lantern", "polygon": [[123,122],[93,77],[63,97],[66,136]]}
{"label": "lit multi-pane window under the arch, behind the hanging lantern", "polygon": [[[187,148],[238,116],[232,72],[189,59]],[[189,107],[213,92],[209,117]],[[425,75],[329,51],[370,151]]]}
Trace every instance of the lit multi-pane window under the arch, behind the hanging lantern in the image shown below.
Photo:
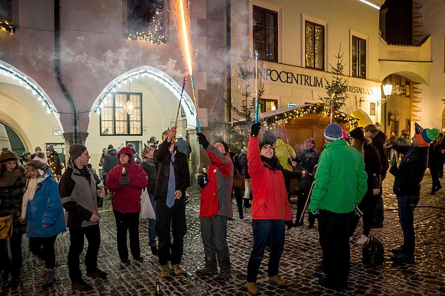
{"label": "lit multi-pane window under the arch, behind the hanging lantern", "polygon": [[[134,111],[127,112],[127,101],[132,101]],[[114,93],[102,102],[100,109],[100,135],[142,135],[142,94]]]}

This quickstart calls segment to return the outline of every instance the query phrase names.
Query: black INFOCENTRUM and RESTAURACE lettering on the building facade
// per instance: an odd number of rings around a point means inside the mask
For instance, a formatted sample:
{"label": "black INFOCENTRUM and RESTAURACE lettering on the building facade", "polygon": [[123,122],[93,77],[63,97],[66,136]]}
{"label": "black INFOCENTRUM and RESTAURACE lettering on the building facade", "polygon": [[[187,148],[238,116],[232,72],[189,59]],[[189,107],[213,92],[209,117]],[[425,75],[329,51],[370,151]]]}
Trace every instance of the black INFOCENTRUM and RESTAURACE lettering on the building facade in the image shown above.
{"label": "black INFOCENTRUM and RESTAURACE lettering on the building facade", "polygon": [[[260,76],[264,80],[272,80],[274,82],[280,81],[281,83],[297,84],[302,86],[311,86],[323,88],[323,77],[307,74],[298,74],[289,71],[278,72],[275,69],[263,68],[263,71],[259,71]],[[348,92],[372,96],[374,94],[373,89],[366,87],[358,87],[348,85]]]}

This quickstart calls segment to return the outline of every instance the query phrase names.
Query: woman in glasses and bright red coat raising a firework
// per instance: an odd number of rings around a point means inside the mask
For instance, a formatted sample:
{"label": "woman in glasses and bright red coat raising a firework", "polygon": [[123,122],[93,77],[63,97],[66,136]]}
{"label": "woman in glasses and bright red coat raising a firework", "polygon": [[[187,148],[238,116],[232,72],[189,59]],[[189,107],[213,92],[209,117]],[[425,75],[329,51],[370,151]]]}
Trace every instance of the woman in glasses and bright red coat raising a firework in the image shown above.
{"label": "woman in glasses and bright red coat raising a firework", "polygon": [[271,143],[258,146],[261,124],[254,123],[250,133],[247,162],[252,183],[252,228],[254,244],[247,265],[247,290],[250,295],[258,294],[256,286],[258,270],[263,259],[267,238],[270,239],[270,257],[267,282],[284,286],[287,281],[278,275],[281,253],[284,247],[285,221],[292,225],[292,214],[287,200],[284,175],[301,179],[302,172],[284,170],[274,155]]}

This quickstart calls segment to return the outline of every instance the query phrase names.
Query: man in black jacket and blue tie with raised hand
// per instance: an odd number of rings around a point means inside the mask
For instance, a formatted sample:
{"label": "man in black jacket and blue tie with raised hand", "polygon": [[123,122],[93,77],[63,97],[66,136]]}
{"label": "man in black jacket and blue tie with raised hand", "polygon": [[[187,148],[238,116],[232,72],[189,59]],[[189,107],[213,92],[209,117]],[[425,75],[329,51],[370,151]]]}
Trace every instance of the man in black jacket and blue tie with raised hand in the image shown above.
{"label": "man in black jacket and blue tie with raised hand", "polygon": [[[185,190],[190,185],[187,156],[174,146],[176,126],[162,134],[162,144],[154,153],[158,170],[155,188],[156,229],[159,239],[159,263],[161,277],[170,274],[171,261],[175,275],[184,273],[180,265],[184,248],[185,224]],[[170,227],[172,227],[173,244],[170,246]]]}

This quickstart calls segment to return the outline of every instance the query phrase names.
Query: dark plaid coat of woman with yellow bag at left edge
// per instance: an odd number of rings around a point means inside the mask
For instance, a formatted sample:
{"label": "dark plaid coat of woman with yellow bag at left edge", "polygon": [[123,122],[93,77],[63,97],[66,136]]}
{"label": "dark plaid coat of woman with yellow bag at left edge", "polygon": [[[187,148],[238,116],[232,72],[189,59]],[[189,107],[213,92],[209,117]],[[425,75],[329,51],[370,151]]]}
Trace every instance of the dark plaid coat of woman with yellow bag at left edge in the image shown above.
{"label": "dark plaid coat of woman with yellow bag at left edge", "polygon": [[26,232],[26,224],[18,222],[18,218],[22,215],[22,196],[26,177],[22,168],[16,167],[16,170],[21,170],[22,174],[15,180],[15,183],[0,186],[0,217],[12,214],[12,235]]}

